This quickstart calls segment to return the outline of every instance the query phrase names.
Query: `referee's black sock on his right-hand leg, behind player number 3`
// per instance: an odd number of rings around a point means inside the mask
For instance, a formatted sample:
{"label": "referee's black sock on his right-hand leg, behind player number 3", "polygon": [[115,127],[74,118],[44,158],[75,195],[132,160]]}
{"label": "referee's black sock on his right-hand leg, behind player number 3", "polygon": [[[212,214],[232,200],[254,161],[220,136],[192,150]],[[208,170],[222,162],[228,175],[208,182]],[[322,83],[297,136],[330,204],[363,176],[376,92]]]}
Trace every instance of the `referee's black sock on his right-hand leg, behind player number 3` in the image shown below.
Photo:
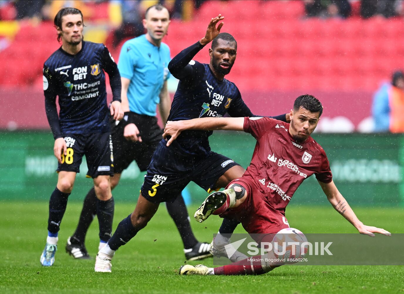
{"label": "referee's black sock on his right-hand leg, behind player number 3", "polygon": [[191,224],[189,223],[187,207],[183,197],[179,195],[173,203],[166,202],[166,206],[168,214],[170,214],[178,228],[184,248],[190,249],[198,244],[198,240],[195,238]]}

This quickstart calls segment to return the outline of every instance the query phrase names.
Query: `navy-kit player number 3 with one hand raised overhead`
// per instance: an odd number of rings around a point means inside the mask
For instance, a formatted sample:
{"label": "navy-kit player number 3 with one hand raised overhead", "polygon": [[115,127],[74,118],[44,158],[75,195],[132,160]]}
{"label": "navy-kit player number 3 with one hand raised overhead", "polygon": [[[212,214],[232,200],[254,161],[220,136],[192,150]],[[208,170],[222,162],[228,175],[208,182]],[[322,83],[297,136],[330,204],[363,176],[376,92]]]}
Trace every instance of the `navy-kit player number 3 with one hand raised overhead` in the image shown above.
{"label": "navy-kit player number 3 with one hand raised overhead", "polygon": [[[220,15],[212,19],[206,36],[170,61],[168,69],[180,82],[168,120],[221,117],[227,112],[231,116],[253,116],[234,83],[224,79],[236,59],[237,43],[230,34],[219,35],[223,23],[216,25],[222,19]],[[212,40],[210,63],[192,61]],[[285,120],[286,116],[282,118]],[[242,176],[244,169],[240,165],[210,150],[211,134],[188,131],[173,146],[167,147],[165,140],[160,142],[147,169],[135,211],[120,222],[107,245],[99,251],[95,271],[110,272],[115,251],[146,226],[160,202],[174,202],[190,181],[210,191]]]}

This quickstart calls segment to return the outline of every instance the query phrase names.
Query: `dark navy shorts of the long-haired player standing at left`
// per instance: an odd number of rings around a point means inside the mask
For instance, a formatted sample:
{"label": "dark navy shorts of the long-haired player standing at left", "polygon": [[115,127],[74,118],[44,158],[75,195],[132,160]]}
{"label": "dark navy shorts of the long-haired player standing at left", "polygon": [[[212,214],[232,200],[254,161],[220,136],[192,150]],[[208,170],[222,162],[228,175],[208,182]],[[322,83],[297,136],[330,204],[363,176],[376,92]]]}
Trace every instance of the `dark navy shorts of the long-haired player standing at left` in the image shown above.
{"label": "dark navy shorts of the long-haired player standing at left", "polygon": [[87,177],[114,175],[114,157],[111,134],[66,134],[64,139],[67,145],[67,155],[62,154],[62,163],[58,164],[57,171],[80,172],[83,155],[87,161]]}

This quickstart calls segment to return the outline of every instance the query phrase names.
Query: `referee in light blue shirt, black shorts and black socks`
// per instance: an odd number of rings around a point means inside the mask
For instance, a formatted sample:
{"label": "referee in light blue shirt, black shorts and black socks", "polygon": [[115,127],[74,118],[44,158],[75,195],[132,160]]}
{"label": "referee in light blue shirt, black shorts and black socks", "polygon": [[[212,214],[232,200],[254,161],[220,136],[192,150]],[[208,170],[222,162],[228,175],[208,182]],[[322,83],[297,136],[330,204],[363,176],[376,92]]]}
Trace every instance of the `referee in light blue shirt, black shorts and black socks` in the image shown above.
{"label": "referee in light blue shirt, black shorts and black socks", "polygon": [[[112,141],[114,146],[114,177],[111,188],[118,185],[122,171],[136,161],[141,171],[147,170],[151,157],[162,139],[157,124],[156,105],[165,125],[171,107],[167,90],[170,74],[170,49],[162,42],[167,34],[170,16],[162,5],[147,9],[143,26],[147,33],[124,43],[118,62],[122,81],[122,109],[124,119],[114,121]],[[92,188],[84,200],[78,227],[69,238],[66,251],[73,257],[85,256],[84,239],[95,215],[95,191]],[[192,233],[187,209],[182,197],[174,203],[166,203],[184,244],[185,257],[196,260],[210,256],[209,243],[200,243]],[[99,250],[105,245],[101,242]],[[77,254],[80,250],[81,254]],[[76,254],[74,254],[76,253]]]}

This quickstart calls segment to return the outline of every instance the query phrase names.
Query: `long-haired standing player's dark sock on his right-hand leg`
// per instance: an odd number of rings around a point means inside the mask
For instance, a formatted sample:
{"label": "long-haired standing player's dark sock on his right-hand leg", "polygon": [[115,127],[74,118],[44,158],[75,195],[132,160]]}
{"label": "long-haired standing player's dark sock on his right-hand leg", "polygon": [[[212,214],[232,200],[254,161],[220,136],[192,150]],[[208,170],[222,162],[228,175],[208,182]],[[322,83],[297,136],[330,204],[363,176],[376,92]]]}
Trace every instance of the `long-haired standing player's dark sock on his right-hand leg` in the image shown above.
{"label": "long-haired standing player's dark sock on his right-hand leg", "polygon": [[99,237],[105,243],[111,238],[112,220],[114,219],[114,197],[107,201],[97,199],[97,218],[100,228]]}

